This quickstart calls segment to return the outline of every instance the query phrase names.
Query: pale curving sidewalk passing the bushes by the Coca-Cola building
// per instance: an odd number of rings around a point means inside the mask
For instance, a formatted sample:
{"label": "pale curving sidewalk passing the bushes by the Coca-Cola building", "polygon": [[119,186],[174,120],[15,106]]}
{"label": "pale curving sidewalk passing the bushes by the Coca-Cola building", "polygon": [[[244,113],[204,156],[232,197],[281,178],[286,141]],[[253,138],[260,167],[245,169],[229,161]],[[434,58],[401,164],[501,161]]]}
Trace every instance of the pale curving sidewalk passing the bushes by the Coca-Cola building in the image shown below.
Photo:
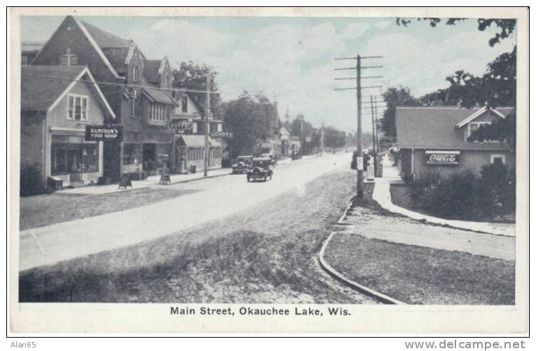
{"label": "pale curving sidewalk passing the bushes by the Coca-Cola building", "polygon": [[383,177],[376,178],[376,185],[374,186],[374,192],[372,194],[373,200],[378,202],[381,207],[387,209],[390,212],[402,214],[408,216],[411,219],[418,221],[426,220],[429,223],[442,224],[446,226],[452,226],[454,228],[460,228],[465,230],[479,231],[483,233],[505,235],[509,237],[516,236],[516,225],[511,223],[488,223],[488,222],[472,222],[472,221],[455,221],[450,219],[441,219],[434,216],[428,216],[426,214],[420,214],[413,212],[404,207],[394,205],[391,201],[390,185],[394,183],[401,183],[402,180],[399,176],[397,167],[394,167],[389,159],[389,156],[383,157]]}

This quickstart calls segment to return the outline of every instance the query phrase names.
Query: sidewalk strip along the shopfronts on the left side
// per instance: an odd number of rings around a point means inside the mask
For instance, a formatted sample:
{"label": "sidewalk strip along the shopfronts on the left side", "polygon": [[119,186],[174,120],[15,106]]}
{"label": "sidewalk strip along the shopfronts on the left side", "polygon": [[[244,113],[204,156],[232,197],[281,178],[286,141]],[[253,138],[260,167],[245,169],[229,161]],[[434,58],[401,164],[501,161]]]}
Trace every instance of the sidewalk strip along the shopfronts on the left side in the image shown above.
{"label": "sidewalk strip along the shopfronts on the left side", "polygon": [[[218,170],[209,170],[206,178],[221,177],[227,174],[231,174],[231,168],[221,168]],[[204,179],[203,172],[190,173],[190,174],[170,174],[171,184],[184,183],[186,181],[193,181]],[[133,180],[132,188],[119,188],[118,184],[109,185],[92,185],[92,186],[79,186],[77,188],[64,188],[60,193],[64,194],[80,194],[80,195],[102,195],[108,193],[116,193],[118,191],[128,191],[132,189],[149,188],[150,186],[157,186],[160,184],[160,176],[147,177],[144,180]]]}

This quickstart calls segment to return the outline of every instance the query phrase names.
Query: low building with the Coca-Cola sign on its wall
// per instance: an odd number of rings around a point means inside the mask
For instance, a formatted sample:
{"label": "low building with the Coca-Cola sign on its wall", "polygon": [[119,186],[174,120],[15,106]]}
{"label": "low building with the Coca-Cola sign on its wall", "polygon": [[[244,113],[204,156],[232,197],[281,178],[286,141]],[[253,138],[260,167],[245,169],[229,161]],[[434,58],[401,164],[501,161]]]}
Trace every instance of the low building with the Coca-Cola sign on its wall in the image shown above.
{"label": "low building with the Coca-Cola sign on its wall", "polygon": [[512,108],[462,109],[458,106],[397,107],[399,169],[404,178],[418,179],[427,172],[452,174],[483,165],[513,165],[514,153],[505,142],[467,142],[481,125],[505,118]]}

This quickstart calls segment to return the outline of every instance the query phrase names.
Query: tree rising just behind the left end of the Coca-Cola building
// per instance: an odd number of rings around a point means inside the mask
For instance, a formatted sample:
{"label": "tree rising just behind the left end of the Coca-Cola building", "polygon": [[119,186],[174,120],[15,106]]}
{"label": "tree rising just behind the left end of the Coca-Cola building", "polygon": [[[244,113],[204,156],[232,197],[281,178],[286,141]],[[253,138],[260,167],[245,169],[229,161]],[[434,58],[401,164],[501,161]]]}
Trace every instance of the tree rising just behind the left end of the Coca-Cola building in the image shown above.
{"label": "tree rising just behind the left end of the Coca-Cola building", "polygon": [[420,102],[411,95],[409,88],[401,85],[399,88],[387,88],[382,96],[387,104],[387,109],[383,111],[383,118],[380,118],[379,129],[385,137],[396,137],[397,126],[394,121],[395,106],[418,106]]}

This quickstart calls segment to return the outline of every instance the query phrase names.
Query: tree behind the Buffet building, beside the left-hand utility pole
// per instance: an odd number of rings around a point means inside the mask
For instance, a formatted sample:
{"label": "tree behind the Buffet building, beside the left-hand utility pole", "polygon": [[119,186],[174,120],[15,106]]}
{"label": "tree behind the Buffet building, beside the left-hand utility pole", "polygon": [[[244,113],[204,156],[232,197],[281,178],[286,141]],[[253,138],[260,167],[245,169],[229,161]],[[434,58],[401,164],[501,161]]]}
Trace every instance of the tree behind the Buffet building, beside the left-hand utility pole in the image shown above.
{"label": "tree behind the Buffet building, beside the left-hand utility pole", "polygon": [[[216,77],[218,72],[209,69],[206,64],[198,64],[193,61],[181,62],[179,69],[173,70],[173,87],[191,90],[207,90],[207,74],[210,76],[210,91],[218,92]],[[202,92],[191,92],[192,99],[195,99],[202,109],[206,106],[206,96]],[[219,94],[210,95],[210,111],[214,116],[221,115],[221,98]]]}

